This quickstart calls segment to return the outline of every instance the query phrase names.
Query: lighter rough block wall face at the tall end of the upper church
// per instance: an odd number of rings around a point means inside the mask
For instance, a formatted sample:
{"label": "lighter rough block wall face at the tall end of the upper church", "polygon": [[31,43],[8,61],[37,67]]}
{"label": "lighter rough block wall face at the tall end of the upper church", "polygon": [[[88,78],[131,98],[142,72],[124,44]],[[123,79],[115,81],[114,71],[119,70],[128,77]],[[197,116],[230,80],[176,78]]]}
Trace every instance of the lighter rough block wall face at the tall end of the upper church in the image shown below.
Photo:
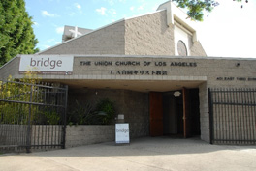
{"label": "lighter rough block wall face at the tall end of the upper church", "polygon": [[175,55],[174,26],[166,24],[166,11],[125,21],[125,54]]}

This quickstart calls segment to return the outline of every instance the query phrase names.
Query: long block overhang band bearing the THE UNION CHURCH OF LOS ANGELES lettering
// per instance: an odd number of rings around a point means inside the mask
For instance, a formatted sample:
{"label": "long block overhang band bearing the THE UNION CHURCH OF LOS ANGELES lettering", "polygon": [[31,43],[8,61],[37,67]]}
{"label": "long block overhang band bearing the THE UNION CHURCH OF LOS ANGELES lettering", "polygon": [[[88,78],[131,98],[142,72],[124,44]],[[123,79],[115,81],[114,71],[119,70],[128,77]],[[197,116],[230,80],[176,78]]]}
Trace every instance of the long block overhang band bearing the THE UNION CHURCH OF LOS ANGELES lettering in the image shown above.
{"label": "long block overhang band bearing the THE UNION CHURCH OF LOS ANGELES lettering", "polygon": [[[251,87],[256,81],[254,58],[75,54],[16,56],[0,68],[1,79],[5,80],[9,75],[16,79],[23,78],[26,67],[22,63],[27,63],[29,69],[29,65],[34,67],[37,58],[37,65],[43,67],[37,71],[43,82],[66,84],[78,91],[120,89],[168,92],[183,87],[199,88],[205,83],[211,87]],[[66,61],[66,58],[71,59]],[[65,67],[61,68],[64,64]]]}

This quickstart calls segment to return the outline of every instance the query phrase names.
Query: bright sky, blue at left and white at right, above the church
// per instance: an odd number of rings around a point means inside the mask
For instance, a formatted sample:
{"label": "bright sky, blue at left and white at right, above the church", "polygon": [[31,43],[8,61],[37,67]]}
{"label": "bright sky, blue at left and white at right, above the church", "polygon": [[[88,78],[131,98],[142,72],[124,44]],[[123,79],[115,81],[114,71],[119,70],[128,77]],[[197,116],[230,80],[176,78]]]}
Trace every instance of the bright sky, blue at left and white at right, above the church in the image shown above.
{"label": "bright sky, blue at left and white at right, above the church", "polygon": [[[94,30],[122,18],[153,13],[166,1],[25,0],[25,3],[33,18],[37,47],[42,51],[61,43],[64,25]],[[196,23],[198,40],[207,55],[256,58],[256,1],[218,2],[220,5],[211,13],[205,13],[203,22]]]}

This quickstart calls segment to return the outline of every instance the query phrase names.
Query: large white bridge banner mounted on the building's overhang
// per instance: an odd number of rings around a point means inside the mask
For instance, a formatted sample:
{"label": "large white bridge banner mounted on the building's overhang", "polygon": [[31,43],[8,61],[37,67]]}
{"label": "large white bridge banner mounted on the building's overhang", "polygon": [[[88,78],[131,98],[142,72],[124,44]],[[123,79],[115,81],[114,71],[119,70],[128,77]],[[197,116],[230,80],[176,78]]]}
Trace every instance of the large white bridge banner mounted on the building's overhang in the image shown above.
{"label": "large white bridge banner mounted on the building's overhang", "polygon": [[19,71],[72,72],[74,56],[21,55]]}

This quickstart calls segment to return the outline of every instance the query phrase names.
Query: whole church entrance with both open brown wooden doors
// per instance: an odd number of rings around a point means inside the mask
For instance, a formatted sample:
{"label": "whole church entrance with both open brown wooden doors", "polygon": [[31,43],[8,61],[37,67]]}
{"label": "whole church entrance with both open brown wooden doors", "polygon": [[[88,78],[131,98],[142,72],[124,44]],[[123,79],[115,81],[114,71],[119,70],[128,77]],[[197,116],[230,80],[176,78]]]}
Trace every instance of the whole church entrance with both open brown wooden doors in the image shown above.
{"label": "whole church entrance with both open brown wooden doors", "polygon": [[149,93],[150,135],[200,135],[199,89]]}

